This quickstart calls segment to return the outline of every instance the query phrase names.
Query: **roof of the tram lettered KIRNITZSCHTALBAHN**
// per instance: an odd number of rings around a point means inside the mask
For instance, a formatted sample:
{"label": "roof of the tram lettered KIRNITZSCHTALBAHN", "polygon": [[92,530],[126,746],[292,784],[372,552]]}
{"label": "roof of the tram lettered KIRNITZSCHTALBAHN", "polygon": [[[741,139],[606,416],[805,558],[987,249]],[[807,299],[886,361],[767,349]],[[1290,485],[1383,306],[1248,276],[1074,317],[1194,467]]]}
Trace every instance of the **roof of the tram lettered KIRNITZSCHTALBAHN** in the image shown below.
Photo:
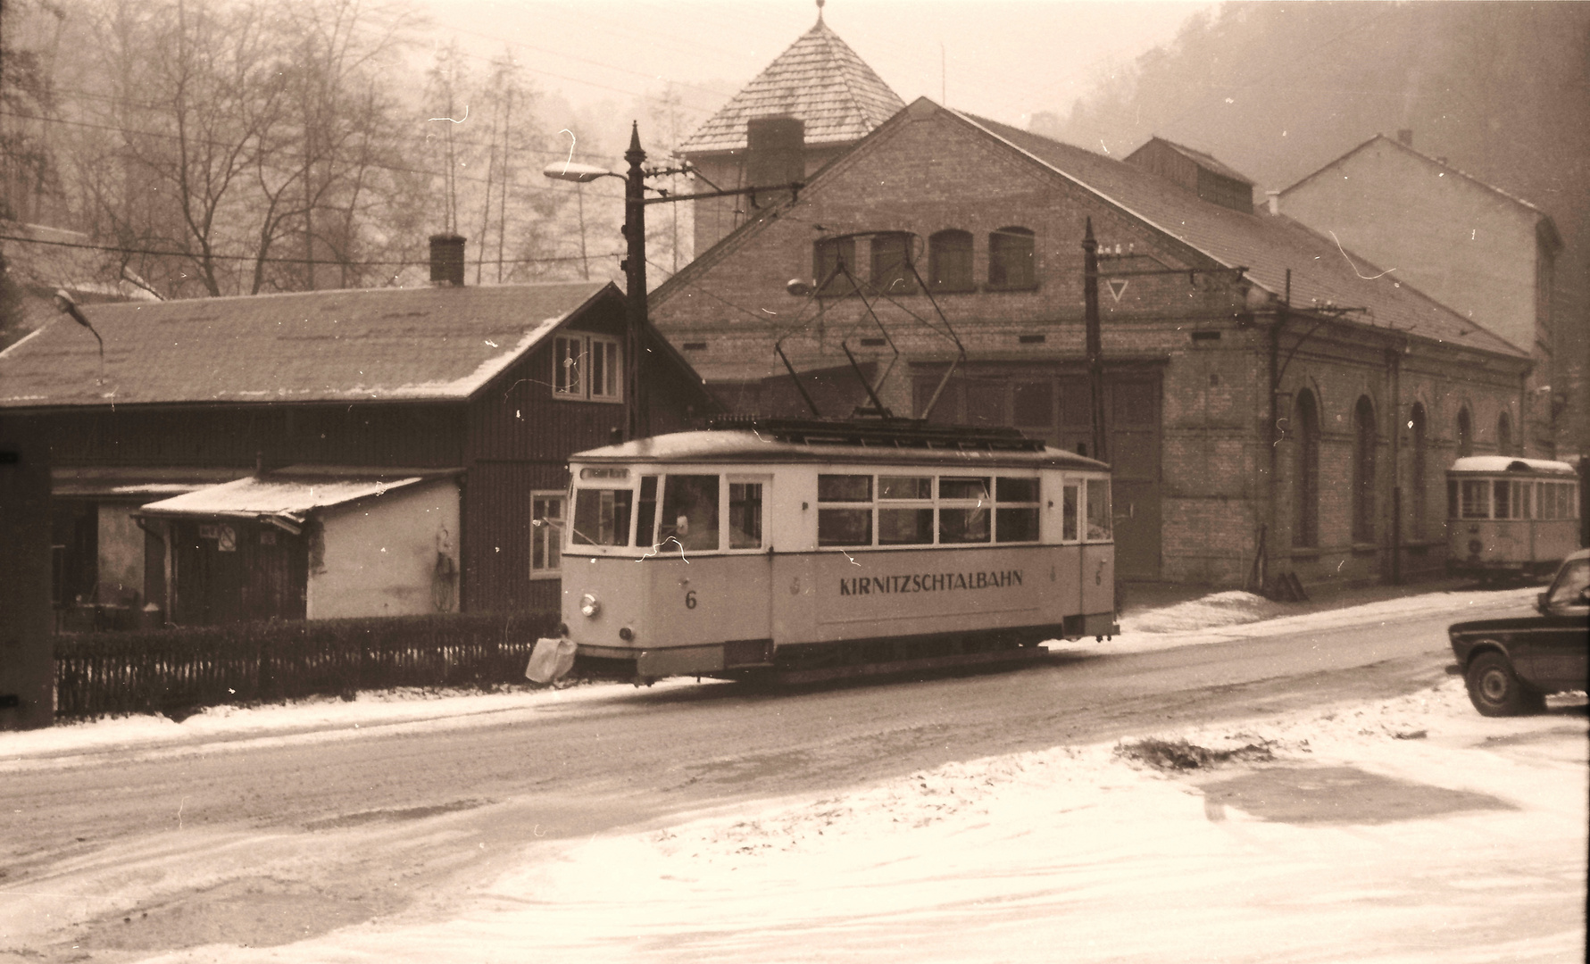
{"label": "roof of the tram lettered KIRNITZSCHTALBAHN", "polygon": [[[1021,441],[1002,445],[1000,441]],[[878,463],[956,468],[1065,468],[1110,471],[1110,466],[1064,449],[1049,449],[1040,441],[1019,434],[992,442],[987,433],[968,431],[957,442],[957,433],[867,433],[846,436],[841,431],[779,431],[762,428],[717,428],[650,436],[576,452],[569,457],[582,463]]]}

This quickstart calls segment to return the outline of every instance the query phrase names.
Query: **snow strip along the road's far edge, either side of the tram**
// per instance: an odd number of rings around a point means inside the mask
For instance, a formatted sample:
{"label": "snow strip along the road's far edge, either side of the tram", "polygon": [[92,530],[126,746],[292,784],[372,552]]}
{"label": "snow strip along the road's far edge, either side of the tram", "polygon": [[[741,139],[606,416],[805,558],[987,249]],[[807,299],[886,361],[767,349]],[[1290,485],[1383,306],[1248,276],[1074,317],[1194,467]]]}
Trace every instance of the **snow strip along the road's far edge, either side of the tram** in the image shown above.
{"label": "snow strip along the road's far edge, either side of the tram", "polygon": [[[1499,609],[1526,604],[1534,589],[1509,592],[1441,592],[1361,606],[1280,616],[1296,606],[1270,603],[1243,592],[1220,592],[1164,609],[1150,609],[1121,620],[1123,635],[1107,643],[1051,641],[1051,651],[1146,652],[1237,638],[1274,636],[1312,628],[1394,622],[1421,614],[1447,614],[1453,620],[1482,619]],[[665,679],[660,687],[717,686]],[[458,729],[498,725],[512,717],[574,709],[590,702],[622,698],[626,686],[577,686],[568,689],[510,687],[502,692],[402,689],[361,692],[358,700],[337,697],[294,700],[286,705],[211,706],[183,722],[164,716],[124,716],[95,721],[64,721],[29,732],[0,732],[0,773],[21,767],[67,765],[84,752],[207,752],[269,746],[283,741],[351,740],[363,729],[425,727]]]}

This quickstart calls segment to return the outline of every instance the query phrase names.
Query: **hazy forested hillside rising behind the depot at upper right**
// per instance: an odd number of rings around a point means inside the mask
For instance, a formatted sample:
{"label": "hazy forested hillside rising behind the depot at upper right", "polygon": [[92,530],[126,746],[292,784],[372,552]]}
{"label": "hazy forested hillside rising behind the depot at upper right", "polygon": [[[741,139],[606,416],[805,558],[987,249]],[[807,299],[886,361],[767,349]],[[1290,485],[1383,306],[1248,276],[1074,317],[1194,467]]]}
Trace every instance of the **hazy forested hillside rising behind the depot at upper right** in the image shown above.
{"label": "hazy forested hillside rising behind the depot at upper right", "polygon": [[1410,129],[1417,150],[1552,215],[1558,358],[1584,380],[1590,3],[1226,3],[1032,129],[1118,157],[1158,134],[1261,189]]}

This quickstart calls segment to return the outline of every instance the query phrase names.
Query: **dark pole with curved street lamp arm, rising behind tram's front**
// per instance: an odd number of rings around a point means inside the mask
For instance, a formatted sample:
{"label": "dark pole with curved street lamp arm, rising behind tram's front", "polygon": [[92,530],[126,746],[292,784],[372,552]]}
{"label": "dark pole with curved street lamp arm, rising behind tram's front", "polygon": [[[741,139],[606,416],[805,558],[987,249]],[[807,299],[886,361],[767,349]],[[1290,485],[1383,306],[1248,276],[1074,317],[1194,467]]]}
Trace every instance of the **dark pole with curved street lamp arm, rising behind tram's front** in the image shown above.
{"label": "dark pole with curved street lamp arm, rising behind tram's front", "polygon": [[[666,177],[671,173],[685,173],[690,170],[688,165],[673,167],[673,169],[653,169],[646,170],[641,164],[646,161],[646,151],[641,150],[641,124],[633,121],[630,124],[630,150],[623,153],[623,159],[630,162],[626,173],[619,173],[615,170],[607,170],[604,167],[593,167],[590,164],[574,164],[572,161],[556,161],[542,169],[541,173],[555,181],[572,181],[576,185],[588,185],[596,178],[622,178],[623,180],[623,237],[628,242],[623,258],[623,278],[626,302],[628,302],[628,318],[625,325],[625,355],[623,355],[623,402],[625,402],[625,441],[639,439],[650,434],[650,418],[646,410],[646,401],[641,398],[641,350],[644,345],[646,332],[646,205],[649,204],[673,204],[676,200],[696,200],[704,197],[728,197],[733,194],[752,194],[757,191],[800,191],[805,183],[795,181],[789,185],[771,185],[771,186],[755,186],[755,188],[736,188],[731,191],[704,191],[700,194],[663,194],[661,197],[646,196],[646,178],[649,177]],[[752,205],[755,205],[755,197],[752,197]]]}

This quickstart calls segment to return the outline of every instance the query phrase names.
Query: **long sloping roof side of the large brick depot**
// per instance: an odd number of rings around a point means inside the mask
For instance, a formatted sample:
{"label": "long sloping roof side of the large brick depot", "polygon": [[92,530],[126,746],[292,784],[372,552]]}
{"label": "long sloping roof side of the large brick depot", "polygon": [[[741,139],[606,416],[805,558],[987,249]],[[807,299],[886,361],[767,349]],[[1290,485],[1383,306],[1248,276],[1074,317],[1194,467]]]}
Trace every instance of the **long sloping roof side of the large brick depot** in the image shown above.
{"label": "long sloping roof side of the large brick depot", "polygon": [[[1331,237],[1269,213],[1243,213],[1200,200],[1197,194],[1132,164],[1096,154],[957,111],[957,116],[1027,153],[1034,159],[1096,191],[1165,234],[1231,267],[1262,288],[1286,291],[1297,309],[1336,305],[1367,309],[1345,317],[1503,355],[1523,356],[1499,336],[1458,315],[1366,259],[1345,251]],[[1100,239],[1108,242],[1108,239]]]}

